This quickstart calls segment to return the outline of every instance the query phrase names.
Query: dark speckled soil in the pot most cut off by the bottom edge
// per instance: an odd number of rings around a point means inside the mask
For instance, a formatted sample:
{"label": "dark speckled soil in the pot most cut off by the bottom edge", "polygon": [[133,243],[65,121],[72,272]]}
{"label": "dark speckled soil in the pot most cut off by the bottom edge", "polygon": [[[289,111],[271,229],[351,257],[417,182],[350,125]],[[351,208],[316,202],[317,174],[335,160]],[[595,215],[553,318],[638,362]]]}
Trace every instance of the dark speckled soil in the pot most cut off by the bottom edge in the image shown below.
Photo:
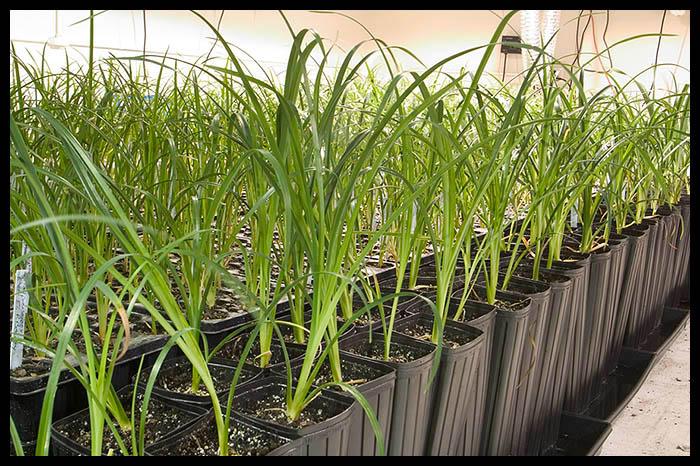
{"label": "dark speckled soil in the pot most cut off by the bottom edge", "polygon": [[[235,419],[229,422],[229,456],[264,456],[287,442]],[[160,456],[219,456],[216,422],[212,418],[201,429],[153,453]]]}

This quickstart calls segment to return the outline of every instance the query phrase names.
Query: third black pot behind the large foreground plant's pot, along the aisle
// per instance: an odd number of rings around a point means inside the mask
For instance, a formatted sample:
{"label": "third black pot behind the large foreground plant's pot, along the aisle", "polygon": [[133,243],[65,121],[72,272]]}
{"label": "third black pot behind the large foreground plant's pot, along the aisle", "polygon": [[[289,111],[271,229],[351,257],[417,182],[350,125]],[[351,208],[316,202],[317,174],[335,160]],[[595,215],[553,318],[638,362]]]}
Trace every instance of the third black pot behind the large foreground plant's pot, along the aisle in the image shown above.
{"label": "third black pot behind the large foreground plant's pot, along the aisle", "polygon": [[[434,317],[427,313],[414,314],[396,322],[394,330],[409,336],[408,331],[420,326],[432,332]],[[454,456],[462,441],[470,394],[485,387],[476,387],[479,352],[484,344],[484,332],[463,322],[447,320],[443,328],[445,346],[440,353],[440,366],[434,387],[428,442],[428,456]],[[448,341],[458,342],[455,346]]]}

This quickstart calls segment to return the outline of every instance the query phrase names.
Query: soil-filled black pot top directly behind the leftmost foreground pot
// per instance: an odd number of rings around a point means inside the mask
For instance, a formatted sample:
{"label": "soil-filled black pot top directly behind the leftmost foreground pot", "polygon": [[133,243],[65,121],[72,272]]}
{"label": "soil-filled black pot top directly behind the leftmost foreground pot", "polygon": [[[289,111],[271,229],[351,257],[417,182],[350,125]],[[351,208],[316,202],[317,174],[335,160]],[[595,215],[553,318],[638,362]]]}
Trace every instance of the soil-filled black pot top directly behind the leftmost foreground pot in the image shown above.
{"label": "soil-filled black pot top directly behind the leftmost foreground pot", "polygon": [[[216,396],[219,399],[225,399],[230,391],[231,382],[233,381],[233,376],[236,373],[236,368],[238,361],[233,359],[225,358],[211,358],[207,364],[209,367],[209,373],[214,379],[215,385],[220,385],[221,388],[216,392]],[[244,389],[253,380],[261,377],[263,374],[262,369],[251,366],[250,364],[243,365],[241,369],[241,374],[238,377],[238,383],[236,385],[236,390]],[[150,375],[150,369],[144,371],[140,377],[140,384],[145,386],[146,381]],[[177,358],[172,358],[163,363],[160,370],[158,371],[158,377],[156,378],[156,383],[153,386],[153,392],[158,393],[164,398],[180,401],[183,403],[192,403],[205,408],[209,408],[212,405],[212,399],[209,393],[194,394],[189,392],[175,391],[168,389],[167,385],[164,384],[163,380],[167,377],[182,377],[191,380],[192,378],[192,363],[187,359],[186,356],[179,356]],[[136,381],[134,381],[135,383]],[[204,384],[200,381],[200,390],[206,390]]]}

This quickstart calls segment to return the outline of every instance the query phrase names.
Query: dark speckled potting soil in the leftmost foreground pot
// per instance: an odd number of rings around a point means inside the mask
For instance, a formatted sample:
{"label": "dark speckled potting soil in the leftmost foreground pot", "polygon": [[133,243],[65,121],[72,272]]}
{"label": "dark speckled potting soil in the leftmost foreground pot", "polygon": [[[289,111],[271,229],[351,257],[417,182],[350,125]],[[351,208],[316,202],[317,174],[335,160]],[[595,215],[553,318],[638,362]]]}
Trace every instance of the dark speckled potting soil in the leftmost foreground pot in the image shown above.
{"label": "dark speckled potting soil in the leftmost foreground pot", "polygon": [[[125,406],[127,413],[131,408],[131,392],[124,392],[120,395],[122,405]],[[143,403],[143,395],[136,395],[136,420],[137,424],[141,416],[141,406]],[[195,420],[197,414],[177,409],[166,405],[157,398],[151,397],[148,403],[148,413],[146,414],[146,425],[144,430],[144,445],[152,444],[166,435],[172,433],[175,429],[183,427],[189,422]],[[123,430],[120,426],[115,425],[119,435],[121,436],[127,449],[131,449],[131,432]],[[135,426],[139,428],[138,425]],[[86,413],[85,416],[78,417],[68,424],[60,424],[58,430],[67,438],[73,440],[79,445],[90,449],[91,434],[90,434],[90,418]],[[138,439],[138,431],[136,432]],[[110,452],[114,455],[122,455],[121,448],[117,443],[112,431],[107,425],[104,427],[104,437],[102,442],[102,454],[107,455]]]}

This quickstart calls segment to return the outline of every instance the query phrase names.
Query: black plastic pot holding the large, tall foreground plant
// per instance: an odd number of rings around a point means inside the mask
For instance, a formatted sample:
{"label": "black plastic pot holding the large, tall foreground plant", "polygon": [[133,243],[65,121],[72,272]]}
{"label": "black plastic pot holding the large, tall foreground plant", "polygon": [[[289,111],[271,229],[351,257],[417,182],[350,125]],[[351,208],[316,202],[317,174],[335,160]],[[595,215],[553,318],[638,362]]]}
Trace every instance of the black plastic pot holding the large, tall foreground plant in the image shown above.
{"label": "black plastic pot holding the large, tall foreground plant", "polygon": [[302,456],[345,456],[348,452],[350,421],[359,408],[351,398],[332,390],[322,390],[305,410],[323,410],[326,419],[313,425],[295,428],[256,417],[254,407],[266,400],[283,402],[287,379],[270,375],[253,381],[233,397],[232,410],[254,425],[265,426],[289,438],[303,438]]}

